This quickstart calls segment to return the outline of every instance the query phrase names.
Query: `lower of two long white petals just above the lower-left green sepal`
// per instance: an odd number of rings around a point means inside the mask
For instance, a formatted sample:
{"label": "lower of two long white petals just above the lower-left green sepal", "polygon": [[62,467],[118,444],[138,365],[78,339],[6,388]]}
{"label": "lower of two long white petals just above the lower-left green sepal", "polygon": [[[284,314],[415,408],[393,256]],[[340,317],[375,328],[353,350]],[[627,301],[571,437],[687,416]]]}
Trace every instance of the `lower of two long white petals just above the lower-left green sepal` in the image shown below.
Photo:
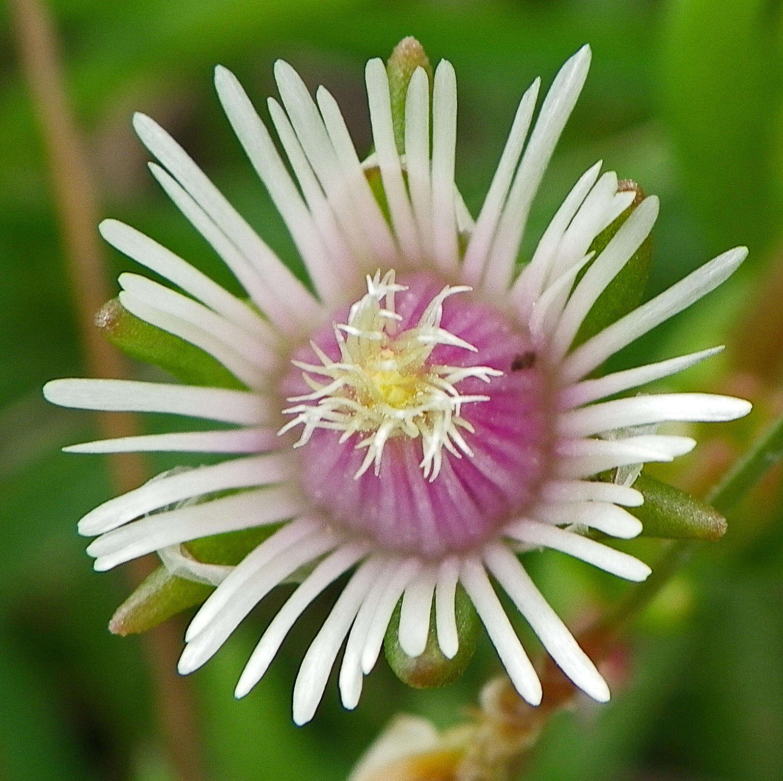
{"label": "lower of two long white petals just above the lower-left green sepal", "polygon": [[289,519],[301,504],[285,486],[244,491],[127,523],[92,541],[87,552],[96,556],[95,569],[103,571],[168,545]]}

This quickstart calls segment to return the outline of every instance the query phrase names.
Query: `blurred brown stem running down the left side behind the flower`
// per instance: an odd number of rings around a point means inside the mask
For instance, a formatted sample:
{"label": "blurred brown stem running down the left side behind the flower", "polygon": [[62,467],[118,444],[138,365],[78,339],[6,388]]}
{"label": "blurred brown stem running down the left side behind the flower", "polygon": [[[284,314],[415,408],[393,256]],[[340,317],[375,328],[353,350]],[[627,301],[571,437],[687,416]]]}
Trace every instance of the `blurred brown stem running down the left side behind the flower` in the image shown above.
{"label": "blurred brown stem running down the left side behind the flower", "polygon": [[[110,286],[96,230],[95,187],[67,103],[55,27],[49,10],[40,0],[11,0],[9,5],[16,24],[21,66],[32,93],[49,159],[63,254],[86,367],[88,373],[96,377],[122,378],[127,375],[124,360],[104,341],[93,322],[95,313],[111,297]],[[101,436],[130,436],[137,431],[132,414],[99,412],[96,418]],[[139,486],[149,475],[149,469],[138,454],[111,455],[109,469],[119,491]],[[138,583],[149,569],[149,562],[139,562],[131,570],[132,580]],[[204,778],[204,772],[198,749],[193,694],[186,679],[175,673],[181,628],[168,622],[146,635],[143,642],[153,681],[157,718],[161,721],[171,768],[183,781],[193,781]]]}

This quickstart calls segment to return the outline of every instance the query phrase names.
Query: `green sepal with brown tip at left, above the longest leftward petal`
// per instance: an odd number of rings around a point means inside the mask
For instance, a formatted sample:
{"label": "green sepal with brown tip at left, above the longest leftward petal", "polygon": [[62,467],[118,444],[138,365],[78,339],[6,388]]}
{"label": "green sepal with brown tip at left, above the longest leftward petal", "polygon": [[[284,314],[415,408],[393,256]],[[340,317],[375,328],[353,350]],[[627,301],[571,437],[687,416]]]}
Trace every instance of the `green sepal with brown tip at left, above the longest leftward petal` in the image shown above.
{"label": "green sepal with brown tip at left, above the longest leftward petal", "polygon": [[96,315],[96,325],[126,355],[153,363],[188,385],[246,389],[244,383],[204,350],[140,320],[118,298],[104,304]]}

